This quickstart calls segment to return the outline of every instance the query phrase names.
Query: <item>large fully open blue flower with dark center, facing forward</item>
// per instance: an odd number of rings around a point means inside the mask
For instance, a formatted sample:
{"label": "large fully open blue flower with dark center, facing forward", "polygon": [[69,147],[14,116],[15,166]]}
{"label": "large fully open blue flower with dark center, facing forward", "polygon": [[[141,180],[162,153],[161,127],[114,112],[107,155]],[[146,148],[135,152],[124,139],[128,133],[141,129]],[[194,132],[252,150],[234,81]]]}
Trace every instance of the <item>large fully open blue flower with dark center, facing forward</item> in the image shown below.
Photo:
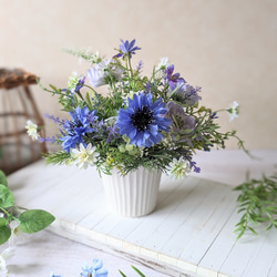
{"label": "large fully open blue flower with dark center, facing forward", "polygon": [[151,93],[138,93],[127,99],[126,110],[120,109],[115,126],[121,135],[130,138],[130,144],[151,147],[162,141],[160,131],[168,132],[170,119],[165,119],[166,109],[162,99],[152,103]]}

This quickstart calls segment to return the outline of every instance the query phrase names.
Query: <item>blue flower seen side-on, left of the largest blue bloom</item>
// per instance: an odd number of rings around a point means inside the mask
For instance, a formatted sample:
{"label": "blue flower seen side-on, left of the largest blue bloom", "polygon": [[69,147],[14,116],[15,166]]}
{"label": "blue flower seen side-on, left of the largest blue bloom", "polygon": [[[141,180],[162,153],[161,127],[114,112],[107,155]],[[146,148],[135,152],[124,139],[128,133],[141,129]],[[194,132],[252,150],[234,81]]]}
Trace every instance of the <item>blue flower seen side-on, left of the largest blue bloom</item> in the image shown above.
{"label": "blue flower seen side-on, left of the largest blue bloom", "polygon": [[60,138],[60,141],[63,142],[62,147],[65,152],[69,153],[71,148],[74,148],[75,145],[80,143],[86,146],[83,141],[83,135],[94,131],[90,124],[92,123],[92,117],[94,120],[98,119],[95,113],[96,111],[89,111],[86,106],[82,109],[78,106],[74,112],[69,113],[72,121],[65,121],[63,125],[65,133],[61,131],[64,136]]}

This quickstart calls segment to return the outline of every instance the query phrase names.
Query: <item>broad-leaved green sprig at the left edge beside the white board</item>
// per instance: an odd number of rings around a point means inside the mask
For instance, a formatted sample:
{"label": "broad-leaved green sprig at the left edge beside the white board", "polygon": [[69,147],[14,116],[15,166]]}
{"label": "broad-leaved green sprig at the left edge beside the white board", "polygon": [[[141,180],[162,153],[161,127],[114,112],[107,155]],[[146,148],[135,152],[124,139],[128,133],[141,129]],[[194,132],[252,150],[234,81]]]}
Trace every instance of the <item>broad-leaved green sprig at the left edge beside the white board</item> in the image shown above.
{"label": "broad-leaved green sprig at the left edge beside the white board", "polygon": [[[24,211],[24,212],[22,212]],[[25,209],[14,205],[12,192],[8,188],[4,173],[0,171],[0,245],[12,235],[11,222],[18,222],[23,233],[35,233],[48,227],[55,218],[43,209]]]}

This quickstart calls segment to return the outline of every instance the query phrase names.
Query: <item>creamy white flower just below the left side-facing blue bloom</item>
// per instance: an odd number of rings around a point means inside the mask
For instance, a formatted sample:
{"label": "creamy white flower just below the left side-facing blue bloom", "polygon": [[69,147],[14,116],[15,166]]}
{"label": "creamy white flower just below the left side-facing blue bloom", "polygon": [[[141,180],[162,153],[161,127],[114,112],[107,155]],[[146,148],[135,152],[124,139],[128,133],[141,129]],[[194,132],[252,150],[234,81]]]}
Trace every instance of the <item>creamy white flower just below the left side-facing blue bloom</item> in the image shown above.
{"label": "creamy white flower just below the left side-facing blue bloom", "polygon": [[83,144],[80,144],[80,150],[71,150],[70,154],[73,158],[73,163],[79,168],[86,170],[89,165],[93,165],[95,157],[98,156],[98,153],[95,153],[96,147],[92,147],[92,144],[89,143],[86,147],[83,146]]}

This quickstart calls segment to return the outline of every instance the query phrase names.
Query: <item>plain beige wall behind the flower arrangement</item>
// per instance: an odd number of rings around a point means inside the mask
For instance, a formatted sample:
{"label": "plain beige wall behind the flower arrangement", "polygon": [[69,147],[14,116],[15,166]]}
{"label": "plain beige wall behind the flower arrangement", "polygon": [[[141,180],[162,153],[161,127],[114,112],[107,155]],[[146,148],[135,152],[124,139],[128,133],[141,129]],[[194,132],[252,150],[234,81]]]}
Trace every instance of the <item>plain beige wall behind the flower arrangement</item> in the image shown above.
{"label": "plain beige wall behind the flower arrangement", "polygon": [[[61,88],[89,65],[62,48],[111,57],[120,39],[136,39],[144,73],[168,57],[202,86],[203,105],[239,102],[238,120],[220,119],[224,130],[236,129],[248,148],[277,147],[275,0],[0,0],[0,66],[23,68]],[[54,98],[38,85],[32,91],[42,114],[61,115]]]}

